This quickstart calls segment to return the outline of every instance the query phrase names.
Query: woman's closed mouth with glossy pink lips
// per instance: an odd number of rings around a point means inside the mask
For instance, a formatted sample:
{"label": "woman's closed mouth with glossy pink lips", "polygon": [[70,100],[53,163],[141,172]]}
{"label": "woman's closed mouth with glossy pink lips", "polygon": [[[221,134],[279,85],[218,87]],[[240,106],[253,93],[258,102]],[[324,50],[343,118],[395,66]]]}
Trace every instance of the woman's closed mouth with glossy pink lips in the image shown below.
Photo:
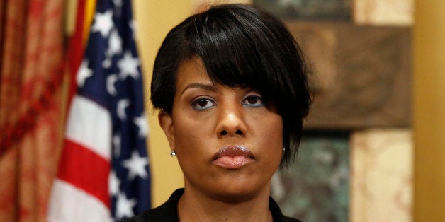
{"label": "woman's closed mouth with glossy pink lips", "polygon": [[225,146],[213,155],[212,163],[221,168],[238,169],[254,161],[254,154],[245,146]]}

